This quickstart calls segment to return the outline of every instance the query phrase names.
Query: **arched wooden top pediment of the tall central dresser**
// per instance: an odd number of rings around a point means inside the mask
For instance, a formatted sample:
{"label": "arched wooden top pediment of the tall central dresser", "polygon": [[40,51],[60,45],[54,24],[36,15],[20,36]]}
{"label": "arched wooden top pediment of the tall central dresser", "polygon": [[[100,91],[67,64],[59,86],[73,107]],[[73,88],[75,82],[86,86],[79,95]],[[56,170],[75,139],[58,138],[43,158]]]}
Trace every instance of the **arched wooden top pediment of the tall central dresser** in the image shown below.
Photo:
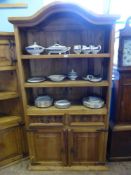
{"label": "arched wooden top pediment of the tall central dresser", "polygon": [[29,17],[9,17],[9,21],[16,26],[31,27],[39,25],[41,22],[56,13],[74,13],[92,24],[113,24],[118,16],[96,15],[74,3],[55,2],[51,3],[37,13]]}

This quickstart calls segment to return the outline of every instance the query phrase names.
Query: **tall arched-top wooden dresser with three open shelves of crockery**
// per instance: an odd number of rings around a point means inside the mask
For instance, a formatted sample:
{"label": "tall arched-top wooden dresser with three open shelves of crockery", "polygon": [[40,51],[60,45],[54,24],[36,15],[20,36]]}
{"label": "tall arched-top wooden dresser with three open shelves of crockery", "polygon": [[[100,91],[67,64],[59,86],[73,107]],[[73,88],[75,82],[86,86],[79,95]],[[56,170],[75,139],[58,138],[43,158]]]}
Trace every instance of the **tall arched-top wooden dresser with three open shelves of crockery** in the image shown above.
{"label": "tall arched-top wooden dresser with three open shelves of crockery", "polygon": [[[14,24],[19,79],[28,134],[31,169],[88,168],[106,161],[108,116],[114,24],[117,17],[97,16],[72,3],[52,3],[32,17],[10,17]],[[70,53],[30,55],[25,47],[36,42],[45,48],[59,43],[71,47]],[[73,51],[74,45],[101,46],[98,54]],[[48,80],[52,74],[67,75],[74,69],[79,78],[61,82]],[[87,74],[102,81],[83,80]],[[46,81],[29,83],[33,76]],[[35,107],[35,98],[49,95],[72,102],[67,109],[54,105]],[[82,98],[96,95],[104,99],[100,109],[86,108]],[[57,165],[57,166],[56,166]],[[83,166],[83,168],[81,168]]]}

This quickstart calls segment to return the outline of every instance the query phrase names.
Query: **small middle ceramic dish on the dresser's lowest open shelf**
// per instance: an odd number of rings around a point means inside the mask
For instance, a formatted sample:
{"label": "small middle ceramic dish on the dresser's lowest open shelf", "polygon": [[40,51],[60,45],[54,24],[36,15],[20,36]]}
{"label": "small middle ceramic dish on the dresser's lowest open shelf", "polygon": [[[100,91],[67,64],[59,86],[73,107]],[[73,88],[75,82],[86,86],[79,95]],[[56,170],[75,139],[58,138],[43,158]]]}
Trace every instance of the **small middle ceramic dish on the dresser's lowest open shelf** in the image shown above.
{"label": "small middle ceramic dish on the dresser's lowest open shelf", "polygon": [[54,106],[60,109],[69,108],[70,105],[71,105],[71,102],[68,100],[57,100],[54,103]]}

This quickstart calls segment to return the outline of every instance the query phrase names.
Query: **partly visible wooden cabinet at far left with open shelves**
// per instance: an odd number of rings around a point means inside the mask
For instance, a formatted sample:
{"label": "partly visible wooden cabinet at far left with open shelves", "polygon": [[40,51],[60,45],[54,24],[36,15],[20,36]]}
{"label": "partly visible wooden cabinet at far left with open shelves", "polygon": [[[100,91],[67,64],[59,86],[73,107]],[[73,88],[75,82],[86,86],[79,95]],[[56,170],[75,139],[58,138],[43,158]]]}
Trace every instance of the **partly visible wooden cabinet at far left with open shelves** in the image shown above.
{"label": "partly visible wooden cabinet at far left with open shelves", "polygon": [[0,167],[26,153],[14,33],[0,33]]}

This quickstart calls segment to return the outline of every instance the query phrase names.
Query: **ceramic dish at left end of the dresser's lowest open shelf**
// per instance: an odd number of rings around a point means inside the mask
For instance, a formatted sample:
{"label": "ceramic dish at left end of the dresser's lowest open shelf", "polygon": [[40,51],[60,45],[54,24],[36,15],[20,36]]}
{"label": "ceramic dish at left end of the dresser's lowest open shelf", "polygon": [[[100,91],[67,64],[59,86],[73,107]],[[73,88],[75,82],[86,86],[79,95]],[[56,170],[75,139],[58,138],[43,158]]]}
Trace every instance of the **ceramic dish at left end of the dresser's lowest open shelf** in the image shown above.
{"label": "ceramic dish at left end of the dresser's lowest open shelf", "polygon": [[39,108],[47,108],[51,106],[52,103],[53,103],[53,99],[48,95],[39,96],[35,99],[35,106]]}

